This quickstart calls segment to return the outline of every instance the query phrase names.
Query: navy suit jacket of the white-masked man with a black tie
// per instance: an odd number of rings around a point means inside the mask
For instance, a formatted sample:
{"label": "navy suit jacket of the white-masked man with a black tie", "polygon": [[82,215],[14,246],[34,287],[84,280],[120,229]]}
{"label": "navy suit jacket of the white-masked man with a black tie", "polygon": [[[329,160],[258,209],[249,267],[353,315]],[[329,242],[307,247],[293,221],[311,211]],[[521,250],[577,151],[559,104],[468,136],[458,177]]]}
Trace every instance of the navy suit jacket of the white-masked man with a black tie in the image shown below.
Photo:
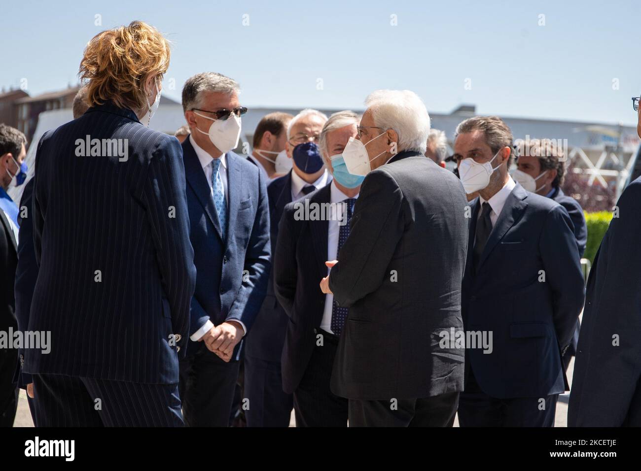
{"label": "navy suit jacket of the white-masked man with a black tie", "polygon": [[474,267],[479,206],[478,198],[470,203],[463,324],[491,331],[493,350],[467,349],[466,377],[471,367],[481,390],[500,399],[562,393],[561,352],[583,307],[572,221],[560,204],[517,183]]}

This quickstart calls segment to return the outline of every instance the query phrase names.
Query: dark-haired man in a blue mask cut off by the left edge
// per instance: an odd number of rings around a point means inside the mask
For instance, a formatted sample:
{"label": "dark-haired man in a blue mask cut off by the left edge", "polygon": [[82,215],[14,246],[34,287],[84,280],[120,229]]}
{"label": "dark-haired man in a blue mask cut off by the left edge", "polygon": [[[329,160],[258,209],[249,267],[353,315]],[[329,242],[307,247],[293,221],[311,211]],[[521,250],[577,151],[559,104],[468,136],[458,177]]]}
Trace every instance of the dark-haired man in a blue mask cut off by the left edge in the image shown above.
{"label": "dark-haired man in a blue mask cut off by the left edge", "polygon": [[[8,335],[9,329],[17,331],[13,283],[18,243],[18,207],[6,194],[15,180],[24,182],[26,174],[21,169],[26,156],[24,134],[11,126],[0,124],[0,331]],[[22,177],[21,177],[22,176]],[[13,342],[13,338],[9,338]],[[18,385],[13,381],[18,361],[18,350],[12,345],[0,348],[0,427],[13,426],[18,406]]]}

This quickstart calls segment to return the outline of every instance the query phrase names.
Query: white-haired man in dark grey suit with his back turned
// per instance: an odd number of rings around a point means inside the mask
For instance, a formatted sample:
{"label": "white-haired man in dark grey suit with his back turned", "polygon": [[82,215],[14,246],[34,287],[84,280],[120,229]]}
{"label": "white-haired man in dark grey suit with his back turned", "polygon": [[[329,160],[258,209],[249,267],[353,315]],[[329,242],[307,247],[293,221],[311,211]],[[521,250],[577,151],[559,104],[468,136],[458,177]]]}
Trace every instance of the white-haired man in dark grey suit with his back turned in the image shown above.
{"label": "white-haired man in dark grey suit with his back turned", "polygon": [[424,157],[429,115],[416,94],[379,90],[365,104],[343,151],[365,179],[320,281],[349,308],[331,390],[349,399],[350,426],[452,426],[465,354],[465,192]]}

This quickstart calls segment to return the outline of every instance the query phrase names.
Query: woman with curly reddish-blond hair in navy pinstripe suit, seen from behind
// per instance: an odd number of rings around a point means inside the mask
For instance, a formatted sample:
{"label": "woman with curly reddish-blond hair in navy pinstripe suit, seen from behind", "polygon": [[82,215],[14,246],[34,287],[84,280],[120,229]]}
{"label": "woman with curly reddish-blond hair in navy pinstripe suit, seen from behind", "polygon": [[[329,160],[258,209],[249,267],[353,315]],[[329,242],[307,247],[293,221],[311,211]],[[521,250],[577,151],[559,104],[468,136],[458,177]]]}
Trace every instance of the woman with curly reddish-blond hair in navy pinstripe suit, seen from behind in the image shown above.
{"label": "woman with curly reddish-blond hair in navy pinstripe suit, seen from behind", "polygon": [[169,54],[144,22],[96,35],[80,64],[90,108],[38,144],[37,282],[19,314],[50,333],[48,352],[24,353],[37,426],[183,424],[178,358],[196,278],[183,156],[148,128]]}

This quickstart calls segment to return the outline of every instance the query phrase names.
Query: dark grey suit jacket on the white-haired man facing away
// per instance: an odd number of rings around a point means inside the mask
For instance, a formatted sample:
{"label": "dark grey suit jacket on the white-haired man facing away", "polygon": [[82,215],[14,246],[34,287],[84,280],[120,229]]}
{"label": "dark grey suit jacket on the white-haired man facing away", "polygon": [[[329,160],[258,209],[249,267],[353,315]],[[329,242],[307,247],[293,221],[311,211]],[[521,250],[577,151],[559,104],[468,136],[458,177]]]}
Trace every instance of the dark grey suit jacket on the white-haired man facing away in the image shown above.
{"label": "dark grey suit jacket on the white-haired man facing away", "polygon": [[461,182],[417,152],[370,172],[329,287],[349,307],[331,390],[350,399],[412,399],[463,389],[460,331],[467,199]]}

